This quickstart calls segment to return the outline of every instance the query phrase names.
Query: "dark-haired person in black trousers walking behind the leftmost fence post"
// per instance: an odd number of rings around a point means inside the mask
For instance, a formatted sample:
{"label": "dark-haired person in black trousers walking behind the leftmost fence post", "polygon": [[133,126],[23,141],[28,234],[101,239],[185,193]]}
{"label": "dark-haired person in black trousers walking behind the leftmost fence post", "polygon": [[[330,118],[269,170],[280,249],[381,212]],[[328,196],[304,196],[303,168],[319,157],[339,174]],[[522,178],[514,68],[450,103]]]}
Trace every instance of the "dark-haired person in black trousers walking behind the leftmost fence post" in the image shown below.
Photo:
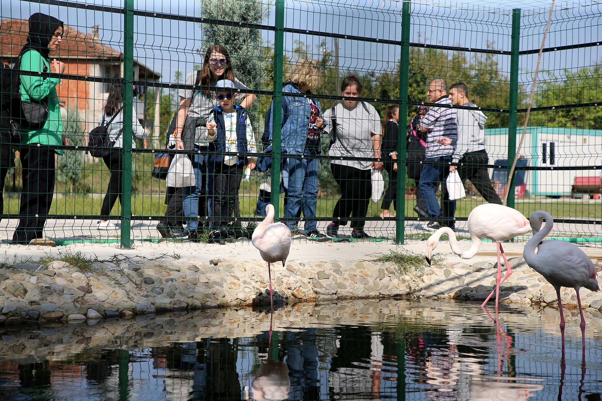
{"label": "dark-haired person in black trousers walking behind the leftmost fence post", "polygon": [[[140,125],[138,119],[135,118],[136,110],[132,106],[132,149],[136,148],[134,138],[145,139],[149,132]],[[105,121],[113,121],[107,126],[107,137],[111,146],[109,151],[105,151],[102,156],[102,161],[111,172],[111,178],[107,187],[107,194],[102,200],[101,221],[96,226],[99,230],[115,229],[117,226],[109,221],[111,210],[119,197],[119,203],[122,203],[122,165],[123,156],[121,148],[123,148],[123,85],[113,84],[109,90],[109,96],[105,106],[102,109],[101,124]]]}

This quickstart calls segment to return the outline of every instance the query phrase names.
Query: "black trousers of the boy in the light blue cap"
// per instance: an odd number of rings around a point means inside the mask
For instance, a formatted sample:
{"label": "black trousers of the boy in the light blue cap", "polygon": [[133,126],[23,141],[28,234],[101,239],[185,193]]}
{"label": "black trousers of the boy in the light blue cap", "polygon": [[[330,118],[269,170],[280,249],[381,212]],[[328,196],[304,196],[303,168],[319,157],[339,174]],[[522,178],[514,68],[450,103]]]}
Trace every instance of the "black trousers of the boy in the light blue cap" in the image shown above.
{"label": "black trousers of the boy in the light blue cap", "polygon": [[243,179],[243,164],[228,166],[225,163],[213,165],[213,226],[225,228],[238,199],[238,188]]}

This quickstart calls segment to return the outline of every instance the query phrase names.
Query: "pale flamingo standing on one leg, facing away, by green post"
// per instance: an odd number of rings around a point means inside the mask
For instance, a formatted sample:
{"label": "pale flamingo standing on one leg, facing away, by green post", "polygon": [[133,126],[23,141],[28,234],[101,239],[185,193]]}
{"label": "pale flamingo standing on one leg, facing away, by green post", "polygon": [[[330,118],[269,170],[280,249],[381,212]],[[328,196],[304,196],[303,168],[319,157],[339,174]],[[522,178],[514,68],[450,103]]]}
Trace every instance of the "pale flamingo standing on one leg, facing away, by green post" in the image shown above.
{"label": "pale flamingo standing on one leg, facing away, by green post", "polygon": [[282,262],[282,267],[287,261],[291,250],[291,230],[283,223],[274,222],[274,207],[268,204],[265,207],[265,219],[257,225],[251,237],[253,246],[259,249],[259,255],[267,262],[267,274],[270,280],[270,305],[274,308],[272,291],[272,273],[270,263]]}

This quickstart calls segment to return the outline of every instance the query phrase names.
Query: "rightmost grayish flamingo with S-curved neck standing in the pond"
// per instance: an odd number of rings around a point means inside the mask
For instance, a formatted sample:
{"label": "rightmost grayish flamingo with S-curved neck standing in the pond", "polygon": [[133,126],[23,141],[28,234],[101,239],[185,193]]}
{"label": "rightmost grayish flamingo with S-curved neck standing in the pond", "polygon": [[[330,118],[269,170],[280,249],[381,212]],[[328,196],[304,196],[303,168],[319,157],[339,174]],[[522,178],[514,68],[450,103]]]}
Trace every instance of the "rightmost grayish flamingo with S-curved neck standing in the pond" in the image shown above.
{"label": "rightmost grayish flamingo with S-curved neck standing in the pond", "polygon": [[[545,226],[541,229],[544,219]],[[562,313],[562,301],[560,300],[560,287],[575,288],[575,291],[577,291],[579,312],[581,314],[583,349],[585,350],[585,318],[583,317],[581,308],[579,290],[581,287],[585,287],[591,291],[600,291],[594,263],[575,244],[565,241],[544,241],[544,238],[550,234],[554,226],[554,220],[550,216],[550,213],[538,210],[529,217],[529,221],[534,234],[525,245],[523,251],[525,261],[531,269],[544,276],[556,289],[558,308],[560,309],[560,332],[562,333],[563,347],[565,321]],[[537,253],[535,253],[535,248],[537,248]]]}

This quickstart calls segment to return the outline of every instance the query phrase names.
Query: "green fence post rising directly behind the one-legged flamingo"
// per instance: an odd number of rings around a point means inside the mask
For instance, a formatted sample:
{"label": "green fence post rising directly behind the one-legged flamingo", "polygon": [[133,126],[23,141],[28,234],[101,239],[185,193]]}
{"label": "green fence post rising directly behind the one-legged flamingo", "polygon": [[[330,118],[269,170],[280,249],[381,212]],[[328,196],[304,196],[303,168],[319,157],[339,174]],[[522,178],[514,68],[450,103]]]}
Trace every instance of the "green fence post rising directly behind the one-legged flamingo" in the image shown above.
{"label": "green fence post rising directly behind the one-legged flamingo", "polygon": [[282,125],[282,66],[284,64],[284,0],[276,0],[274,34],[274,95],[272,98],[272,205],[274,219],[280,216],[280,158]]}

